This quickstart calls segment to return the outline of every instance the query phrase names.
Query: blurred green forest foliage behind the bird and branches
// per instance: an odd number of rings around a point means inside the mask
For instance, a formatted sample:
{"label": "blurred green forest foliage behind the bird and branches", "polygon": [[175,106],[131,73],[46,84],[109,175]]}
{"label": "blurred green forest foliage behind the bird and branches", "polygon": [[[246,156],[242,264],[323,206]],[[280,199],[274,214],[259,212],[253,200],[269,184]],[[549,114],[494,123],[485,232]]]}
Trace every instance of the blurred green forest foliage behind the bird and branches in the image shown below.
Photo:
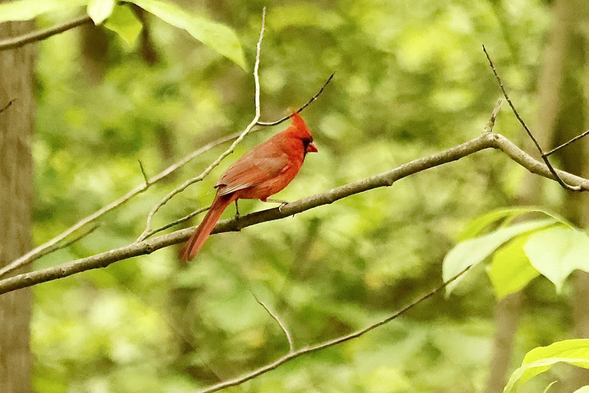
{"label": "blurred green forest foliage behind the bird and branches", "polygon": [[[262,120],[305,103],[319,153],[277,194],[296,200],[477,137],[500,95],[485,44],[521,115],[534,126],[542,54],[554,20],[541,0],[178,1],[236,31],[248,72],[145,15],[128,47],[84,27],[41,42],[37,60],[34,240],[39,244],[137,184],[251,121],[262,6]],[[39,26],[72,14],[44,15]],[[254,133],[202,183],[168,203],[155,225],[207,206],[217,177],[287,124]],[[507,105],[495,131],[524,146]],[[80,242],[39,260],[56,265],[124,246],[169,190],[226,146],[102,219]],[[36,286],[36,391],[189,392],[243,374],[288,350],[362,328],[441,282],[441,261],[470,219],[517,199],[524,171],[485,151],[295,217],[214,235],[190,265],[178,247]],[[548,183],[548,181],[547,181]],[[562,192],[547,184],[558,206]],[[245,201],[241,213],[266,209]],[[225,217],[233,215],[228,209]],[[191,224],[197,224],[193,219]],[[481,270],[482,271],[482,270]],[[570,336],[570,288],[525,290],[514,345],[525,352]],[[482,392],[496,299],[483,274],[389,325],[303,356],[229,392]],[[525,391],[541,391],[554,375]]]}

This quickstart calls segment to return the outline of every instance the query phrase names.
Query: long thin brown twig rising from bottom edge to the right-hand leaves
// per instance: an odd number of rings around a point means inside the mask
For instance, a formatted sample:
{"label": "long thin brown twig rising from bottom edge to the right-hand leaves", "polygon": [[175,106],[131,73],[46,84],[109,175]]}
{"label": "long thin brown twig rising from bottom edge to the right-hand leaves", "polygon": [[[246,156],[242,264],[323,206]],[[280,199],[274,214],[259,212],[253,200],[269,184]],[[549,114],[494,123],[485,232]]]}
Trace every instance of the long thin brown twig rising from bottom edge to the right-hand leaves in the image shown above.
{"label": "long thin brown twig rising from bottom edge to the right-hand leaves", "polygon": [[241,384],[243,384],[243,382],[246,382],[246,381],[249,381],[250,379],[256,378],[259,375],[266,374],[266,372],[272,371],[273,369],[276,369],[279,366],[283,365],[284,363],[292,361],[293,359],[296,359],[299,356],[310,354],[311,352],[320,351],[321,349],[330,348],[331,346],[342,344],[343,342],[358,338],[358,337],[364,335],[365,333],[368,333],[369,331],[378,328],[379,326],[382,326],[388,322],[391,322],[393,319],[399,318],[399,316],[408,312],[409,310],[411,310],[413,307],[415,307],[419,303],[431,298],[436,293],[438,293],[442,289],[446,288],[446,286],[449,283],[453,282],[454,280],[456,280],[457,278],[462,276],[464,273],[466,273],[466,270],[468,270],[468,269],[470,269],[470,266],[467,266],[464,270],[462,270],[462,272],[458,273],[457,275],[455,275],[454,277],[452,277],[448,281],[442,283],[442,285],[438,286],[437,288],[432,289],[431,291],[429,291],[425,295],[421,296],[421,298],[413,300],[413,302],[409,303],[408,305],[403,307],[398,312],[395,312],[392,315],[386,317],[385,319],[382,319],[381,321],[373,323],[372,325],[370,325],[362,330],[350,333],[345,336],[338,337],[333,340],[322,342],[321,344],[308,346],[307,348],[302,348],[302,349],[299,349],[298,351],[289,352],[289,354],[282,356],[282,358],[277,359],[273,363],[267,364],[267,365],[262,366],[259,369],[256,369],[252,372],[241,375],[241,377],[230,379],[229,381],[223,381],[223,382],[220,382],[219,384],[213,385],[209,388],[202,389],[202,390],[198,391],[198,393],[212,393],[212,392],[220,391],[222,389],[226,389],[229,387],[241,385]]}

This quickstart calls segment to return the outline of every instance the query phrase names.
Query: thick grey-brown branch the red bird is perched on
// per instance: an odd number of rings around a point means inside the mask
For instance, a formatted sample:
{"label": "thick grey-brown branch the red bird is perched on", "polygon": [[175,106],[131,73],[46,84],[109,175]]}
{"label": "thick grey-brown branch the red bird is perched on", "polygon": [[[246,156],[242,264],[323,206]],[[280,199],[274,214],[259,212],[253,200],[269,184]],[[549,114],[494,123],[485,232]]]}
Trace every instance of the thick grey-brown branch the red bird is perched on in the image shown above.
{"label": "thick grey-brown branch the red bird is perched on", "polygon": [[[337,187],[324,193],[297,200],[283,206],[282,209],[275,207],[274,209],[262,210],[261,212],[241,216],[239,220],[222,220],[217,223],[213,233],[239,231],[247,226],[290,217],[293,216],[293,214],[302,213],[324,204],[330,204],[339,199],[362,193],[364,191],[376,189],[378,187],[392,186],[395,181],[403,179],[403,177],[411,176],[412,174],[459,160],[460,158],[487,148],[497,148],[531,173],[554,180],[551,171],[545,166],[545,164],[532,158],[507,138],[500,134],[484,133],[477,138],[458,146],[451,147],[448,150],[432,154],[429,157],[418,158],[396,167],[395,169],[369,177],[368,179],[345,184],[344,186]],[[558,170],[558,174],[562,179],[566,180],[568,183],[574,184],[580,190],[589,190],[589,179],[584,179],[583,177],[575,176],[574,174],[561,170]],[[135,242],[129,246],[84,257],[72,262],[62,263],[58,266],[39,269],[3,279],[0,280],[0,294],[20,288],[26,288],[42,282],[57,280],[74,275],[75,273],[84,272],[85,270],[106,267],[111,265],[111,263],[131,257],[150,254],[163,247],[186,242],[195,229],[196,227],[177,230],[176,232],[168,233],[167,235],[153,237],[144,240],[143,242]]]}

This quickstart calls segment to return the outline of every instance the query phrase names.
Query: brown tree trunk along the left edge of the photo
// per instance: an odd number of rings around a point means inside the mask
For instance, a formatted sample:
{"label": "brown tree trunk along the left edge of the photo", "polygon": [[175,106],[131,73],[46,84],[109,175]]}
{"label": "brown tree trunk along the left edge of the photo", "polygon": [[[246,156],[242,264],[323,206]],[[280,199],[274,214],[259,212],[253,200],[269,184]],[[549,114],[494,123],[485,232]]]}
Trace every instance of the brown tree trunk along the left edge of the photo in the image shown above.
{"label": "brown tree trunk along the left edge of the photo", "polygon": [[[0,2],[2,2],[0,0]],[[31,23],[0,24],[0,38],[30,31]],[[0,52],[0,266],[31,248],[34,48]],[[0,295],[0,390],[31,392],[30,288]]]}

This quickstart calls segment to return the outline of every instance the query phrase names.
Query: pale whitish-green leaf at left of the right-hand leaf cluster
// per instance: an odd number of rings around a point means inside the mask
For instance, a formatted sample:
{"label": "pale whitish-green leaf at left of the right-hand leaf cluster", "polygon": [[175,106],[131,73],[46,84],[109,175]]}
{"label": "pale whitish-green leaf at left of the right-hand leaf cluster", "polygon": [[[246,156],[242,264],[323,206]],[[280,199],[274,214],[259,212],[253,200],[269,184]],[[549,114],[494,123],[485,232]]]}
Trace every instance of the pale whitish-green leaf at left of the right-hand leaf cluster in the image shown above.
{"label": "pale whitish-green leaf at left of the right-hand leaf cluster", "polygon": [[[451,279],[469,265],[477,265],[485,260],[499,246],[513,239],[522,233],[531,232],[554,224],[554,219],[535,220],[512,225],[507,228],[495,230],[484,236],[475,237],[475,239],[465,240],[458,243],[446,256],[442,262],[442,278],[444,281]],[[472,270],[472,269],[471,269]],[[446,294],[452,292],[458,282],[466,276],[462,275],[459,279],[450,283],[446,287]]]}

